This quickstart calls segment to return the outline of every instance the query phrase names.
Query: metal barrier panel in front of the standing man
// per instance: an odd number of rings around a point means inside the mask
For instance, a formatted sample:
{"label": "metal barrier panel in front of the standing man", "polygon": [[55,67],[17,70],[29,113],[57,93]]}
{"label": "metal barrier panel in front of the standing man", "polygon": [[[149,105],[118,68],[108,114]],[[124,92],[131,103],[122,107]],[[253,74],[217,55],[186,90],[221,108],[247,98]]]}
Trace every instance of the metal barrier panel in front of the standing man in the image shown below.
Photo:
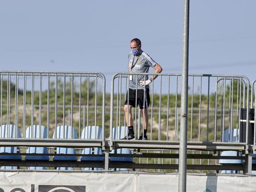
{"label": "metal barrier panel in front of the standing man", "polygon": [[[126,126],[123,112],[126,93],[129,92],[129,77],[132,74],[137,80],[138,75],[156,75],[154,73],[117,73],[111,83],[111,121],[112,128]],[[179,141],[179,107],[181,74],[157,74],[158,77],[150,84],[150,105],[148,108],[149,140]],[[137,94],[137,91],[136,91]],[[128,99],[129,100],[129,99]],[[145,102],[145,101],[144,101]],[[136,100],[136,104],[138,101]],[[211,115],[210,108],[214,108]],[[224,141],[224,130],[228,129],[227,142],[232,140],[231,129],[237,135],[240,128],[240,109],[249,109],[249,80],[245,76],[189,74],[189,114],[188,141],[190,142],[221,142]],[[115,116],[114,116],[114,110]],[[202,116],[202,110],[206,115]],[[157,117],[154,115],[157,112]],[[138,107],[132,111],[135,137],[138,138],[144,129],[145,112],[140,113]],[[129,118],[129,117],[127,117]],[[142,121],[141,121],[142,119]],[[248,121],[246,127],[248,126]],[[248,133],[246,131],[246,141]],[[112,138],[110,137],[110,141]]]}

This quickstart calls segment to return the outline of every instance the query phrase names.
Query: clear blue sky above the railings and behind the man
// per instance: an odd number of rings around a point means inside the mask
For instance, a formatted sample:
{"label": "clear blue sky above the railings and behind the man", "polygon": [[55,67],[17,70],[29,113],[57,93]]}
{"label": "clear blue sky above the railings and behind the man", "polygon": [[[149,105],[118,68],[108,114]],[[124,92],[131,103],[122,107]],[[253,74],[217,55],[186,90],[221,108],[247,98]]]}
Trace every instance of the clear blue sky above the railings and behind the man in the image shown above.
{"label": "clear blue sky above the railings and behind the man", "polygon": [[[127,71],[130,40],[180,73],[183,0],[0,0],[0,70]],[[190,0],[189,73],[256,79],[256,1]]]}

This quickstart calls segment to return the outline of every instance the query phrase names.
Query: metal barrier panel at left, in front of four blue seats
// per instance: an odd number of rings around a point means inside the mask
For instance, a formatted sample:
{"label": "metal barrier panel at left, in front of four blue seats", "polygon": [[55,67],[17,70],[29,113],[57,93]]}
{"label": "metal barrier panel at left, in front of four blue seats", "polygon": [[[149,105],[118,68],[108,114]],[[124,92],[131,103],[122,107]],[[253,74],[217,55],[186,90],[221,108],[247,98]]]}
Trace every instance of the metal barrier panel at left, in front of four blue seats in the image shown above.
{"label": "metal barrier panel at left, in front of four blue seats", "polygon": [[[57,126],[62,125],[74,127],[78,138],[84,128],[82,125],[100,126],[102,135],[105,133],[105,77],[102,73],[0,71],[0,88],[0,125],[22,128],[23,138],[30,125],[45,126],[47,138],[53,138]],[[89,106],[94,113],[89,113]],[[78,111],[74,112],[74,107]],[[86,118],[81,119],[81,111]]]}

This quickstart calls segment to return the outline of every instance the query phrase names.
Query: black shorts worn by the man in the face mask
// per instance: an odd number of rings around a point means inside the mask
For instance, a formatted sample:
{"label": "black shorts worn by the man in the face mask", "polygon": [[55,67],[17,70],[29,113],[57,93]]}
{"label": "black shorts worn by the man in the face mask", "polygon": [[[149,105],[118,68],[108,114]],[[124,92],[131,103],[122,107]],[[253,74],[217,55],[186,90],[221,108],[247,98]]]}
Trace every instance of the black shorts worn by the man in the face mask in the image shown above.
{"label": "black shorts worn by the man in the face mask", "polygon": [[[144,100],[145,98],[145,100]],[[128,103],[128,90],[126,93],[125,105]],[[140,109],[147,109],[149,107],[150,97],[149,97],[149,88],[138,89],[137,90],[137,106],[140,106]],[[143,105],[145,104],[145,105]],[[136,107],[136,89],[129,88],[129,105]]]}

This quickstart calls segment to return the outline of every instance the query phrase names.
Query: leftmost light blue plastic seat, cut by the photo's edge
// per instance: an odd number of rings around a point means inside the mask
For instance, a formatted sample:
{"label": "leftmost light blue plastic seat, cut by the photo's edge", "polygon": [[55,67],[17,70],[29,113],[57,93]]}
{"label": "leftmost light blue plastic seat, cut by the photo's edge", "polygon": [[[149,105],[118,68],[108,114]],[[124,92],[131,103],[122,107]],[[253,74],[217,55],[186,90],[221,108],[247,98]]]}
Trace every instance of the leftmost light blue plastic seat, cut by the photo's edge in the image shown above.
{"label": "leftmost light blue plastic seat, cut by the photo's edge", "polygon": [[[21,131],[15,125],[2,125],[0,138],[21,138]],[[16,153],[17,147],[0,147],[0,159],[21,159],[20,155],[1,155],[1,153]],[[9,167],[9,166],[8,166]]]}

